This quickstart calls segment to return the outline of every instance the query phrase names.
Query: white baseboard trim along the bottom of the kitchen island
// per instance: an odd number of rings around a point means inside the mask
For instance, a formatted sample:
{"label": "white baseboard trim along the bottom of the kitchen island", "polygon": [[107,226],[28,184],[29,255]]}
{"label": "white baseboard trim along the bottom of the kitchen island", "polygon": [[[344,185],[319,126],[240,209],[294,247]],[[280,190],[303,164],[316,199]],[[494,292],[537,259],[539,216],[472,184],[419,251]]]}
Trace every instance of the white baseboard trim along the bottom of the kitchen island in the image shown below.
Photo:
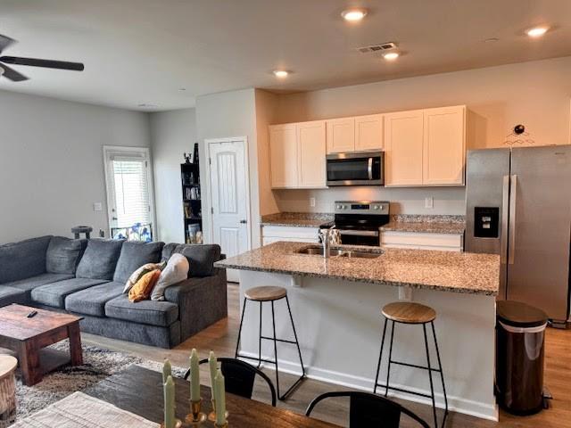
{"label": "white baseboard trim along the bottom of the kitchen island", "polygon": [[[257,353],[241,351],[241,354],[244,355],[245,357],[258,358]],[[270,359],[273,358],[273,356],[262,355],[262,358]],[[298,376],[302,374],[302,370],[300,368],[299,363],[294,363],[292,361],[285,361],[282,359],[278,359],[277,361],[279,364],[280,372],[284,372],[287,374],[296,374]],[[247,361],[247,362],[252,364],[252,361]],[[276,369],[276,367],[273,364],[262,363],[262,366],[264,368],[269,368],[270,370]],[[368,392],[371,391],[372,385],[375,382],[372,378],[354,376],[352,374],[344,374],[340,372],[335,372],[333,370],[326,370],[313,366],[305,366],[305,374],[310,379],[314,379],[316,381],[325,382],[325,383],[334,383],[336,385],[341,385],[346,388],[352,388],[355,390],[368,391]],[[410,389],[411,391],[420,392],[424,394],[430,393],[430,391],[428,390],[411,388],[408,385],[402,385],[398,383],[394,383],[393,386],[397,388],[407,388]],[[407,399],[409,401],[414,401],[417,403],[426,404],[427,406],[432,406],[432,400],[426,399],[424,397],[418,397],[412,394],[407,394],[405,392],[389,391],[388,395],[390,397],[395,397],[398,399]],[[443,394],[440,392],[436,392],[435,399],[436,399],[436,407],[444,408]],[[487,419],[494,422],[498,421],[499,410],[497,405],[490,406],[488,404],[479,401],[474,401],[470,399],[461,399],[459,397],[448,395],[448,408],[449,410],[462,413],[464,415],[475,416],[481,419]]]}

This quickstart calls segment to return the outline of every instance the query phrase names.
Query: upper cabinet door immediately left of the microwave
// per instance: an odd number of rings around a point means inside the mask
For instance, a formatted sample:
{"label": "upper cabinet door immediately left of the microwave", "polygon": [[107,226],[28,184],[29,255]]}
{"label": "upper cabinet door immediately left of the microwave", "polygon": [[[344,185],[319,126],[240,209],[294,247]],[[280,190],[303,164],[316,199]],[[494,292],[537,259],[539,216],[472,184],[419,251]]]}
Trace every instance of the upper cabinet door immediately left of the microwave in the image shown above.
{"label": "upper cabinet door immediately left of the microwave", "polygon": [[298,123],[296,129],[299,159],[297,187],[325,187],[325,121]]}

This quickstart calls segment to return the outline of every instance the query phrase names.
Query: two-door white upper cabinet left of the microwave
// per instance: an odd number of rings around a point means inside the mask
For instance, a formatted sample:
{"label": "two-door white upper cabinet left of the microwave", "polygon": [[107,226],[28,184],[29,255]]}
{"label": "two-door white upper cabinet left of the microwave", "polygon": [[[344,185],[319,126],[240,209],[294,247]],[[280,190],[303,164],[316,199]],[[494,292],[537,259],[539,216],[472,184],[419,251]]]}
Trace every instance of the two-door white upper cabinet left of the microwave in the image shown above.
{"label": "two-door white upper cabinet left of the microwave", "polygon": [[325,187],[325,136],[324,120],[270,126],[272,188]]}

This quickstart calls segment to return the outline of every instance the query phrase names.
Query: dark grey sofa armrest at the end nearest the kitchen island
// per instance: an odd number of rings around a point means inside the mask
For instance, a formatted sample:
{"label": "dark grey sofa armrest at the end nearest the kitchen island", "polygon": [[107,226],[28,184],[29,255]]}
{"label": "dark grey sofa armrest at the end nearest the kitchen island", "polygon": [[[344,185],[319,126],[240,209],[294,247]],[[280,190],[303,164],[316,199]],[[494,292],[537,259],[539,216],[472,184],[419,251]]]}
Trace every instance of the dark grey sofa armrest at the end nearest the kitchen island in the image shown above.
{"label": "dark grey sofa armrest at the end nearest the kitchen island", "polygon": [[180,340],[228,317],[226,269],[215,268],[213,275],[192,277],[165,290],[165,300],[178,305]]}

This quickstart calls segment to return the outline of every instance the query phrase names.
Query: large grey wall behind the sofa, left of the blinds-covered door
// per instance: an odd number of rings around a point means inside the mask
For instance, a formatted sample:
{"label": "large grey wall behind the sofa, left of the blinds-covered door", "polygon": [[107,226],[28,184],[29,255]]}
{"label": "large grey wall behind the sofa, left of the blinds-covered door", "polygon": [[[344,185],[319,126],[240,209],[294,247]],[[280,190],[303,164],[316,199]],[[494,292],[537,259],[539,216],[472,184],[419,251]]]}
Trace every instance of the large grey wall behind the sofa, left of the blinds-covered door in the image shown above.
{"label": "large grey wall behind the sofa, left of the blinds-covered door", "polygon": [[150,145],[145,113],[4,91],[0,129],[0,243],[107,231],[102,147]]}

